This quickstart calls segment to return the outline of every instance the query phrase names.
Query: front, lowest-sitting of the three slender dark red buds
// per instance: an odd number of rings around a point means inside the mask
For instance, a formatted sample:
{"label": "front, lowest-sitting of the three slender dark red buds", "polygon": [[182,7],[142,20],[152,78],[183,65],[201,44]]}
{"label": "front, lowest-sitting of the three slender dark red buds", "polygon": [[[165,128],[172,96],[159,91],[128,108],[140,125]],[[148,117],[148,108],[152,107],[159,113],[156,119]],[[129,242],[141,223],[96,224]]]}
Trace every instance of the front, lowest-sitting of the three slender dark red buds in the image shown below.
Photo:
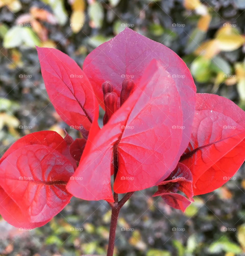
{"label": "front, lowest-sitting of the three slender dark red buds", "polygon": [[116,111],[118,102],[118,95],[115,92],[108,92],[104,94],[104,103],[105,103],[105,115],[103,118],[103,125],[105,125],[113,113]]}

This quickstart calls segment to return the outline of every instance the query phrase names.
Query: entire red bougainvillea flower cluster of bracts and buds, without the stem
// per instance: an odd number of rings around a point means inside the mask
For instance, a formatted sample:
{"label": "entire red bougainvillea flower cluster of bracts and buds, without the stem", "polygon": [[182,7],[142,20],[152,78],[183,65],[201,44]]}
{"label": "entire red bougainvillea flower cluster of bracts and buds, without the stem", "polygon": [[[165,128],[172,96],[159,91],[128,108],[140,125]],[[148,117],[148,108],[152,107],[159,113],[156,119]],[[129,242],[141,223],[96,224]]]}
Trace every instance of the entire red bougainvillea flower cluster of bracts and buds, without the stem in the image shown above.
{"label": "entire red bougainvillea flower cluster of bracts and buds, without the stem", "polygon": [[158,186],[153,196],[184,211],[243,163],[244,111],[220,96],[196,94],[185,63],[164,45],[126,28],[93,50],[83,70],[59,50],[37,51],[52,104],[83,138],[42,131],[7,150],[0,213],[10,224],[42,226],[72,195],[113,202],[113,174],[115,193]]}

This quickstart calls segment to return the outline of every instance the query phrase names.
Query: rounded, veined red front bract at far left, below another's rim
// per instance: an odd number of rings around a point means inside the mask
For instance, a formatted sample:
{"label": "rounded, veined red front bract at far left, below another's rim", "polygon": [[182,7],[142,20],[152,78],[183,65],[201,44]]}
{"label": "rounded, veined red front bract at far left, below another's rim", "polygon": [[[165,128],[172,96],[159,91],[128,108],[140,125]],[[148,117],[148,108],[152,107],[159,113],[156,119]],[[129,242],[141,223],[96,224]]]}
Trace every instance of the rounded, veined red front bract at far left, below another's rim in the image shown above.
{"label": "rounded, veined red front bract at far left, below another's rim", "polygon": [[66,184],[73,171],[68,159],[50,147],[29,145],[10,153],[0,165],[8,195],[1,202],[3,216],[16,227],[44,225],[69,203]]}

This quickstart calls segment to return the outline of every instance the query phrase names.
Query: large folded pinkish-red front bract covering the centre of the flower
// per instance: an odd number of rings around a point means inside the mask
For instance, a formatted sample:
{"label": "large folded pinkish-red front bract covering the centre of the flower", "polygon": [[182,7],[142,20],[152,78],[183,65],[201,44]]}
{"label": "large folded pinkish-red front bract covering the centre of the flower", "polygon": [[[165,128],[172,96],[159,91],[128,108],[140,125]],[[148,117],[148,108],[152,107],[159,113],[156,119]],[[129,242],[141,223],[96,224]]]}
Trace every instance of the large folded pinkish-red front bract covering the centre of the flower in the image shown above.
{"label": "large folded pinkish-red front bract covering the centre of the flower", "polygon": [[182,125],[182,111],[174,81],[153,60],[140,81],[140,88],[136,88],[95,137],[89,135],[91,146],[88,148],[86,144],[74,180],[67,185],[74,196],[86,200],[111,196],[114,145],[118,148],[119,162],[114,183],[117,193],[151,187],[168,177],[169,166],[177,165],[182,130],[173,126]]}

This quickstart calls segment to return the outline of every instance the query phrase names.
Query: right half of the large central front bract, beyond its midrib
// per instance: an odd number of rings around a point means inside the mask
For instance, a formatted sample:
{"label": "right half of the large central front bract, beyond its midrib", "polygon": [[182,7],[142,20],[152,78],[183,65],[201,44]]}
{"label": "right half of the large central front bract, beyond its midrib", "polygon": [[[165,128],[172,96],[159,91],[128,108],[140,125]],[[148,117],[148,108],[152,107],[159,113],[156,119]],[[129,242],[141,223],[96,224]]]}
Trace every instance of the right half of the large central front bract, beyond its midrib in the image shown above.
{"label": "right half of the large central front bract, beyond its midrib", "polygon": [[[116,193],[141,190],[156,185],[169,176],[177,165],[182,138],[182,111],[175,82],[164,67],[153,60],[147,67],[133,105],[126,102],[121,112],[131,105],[123,123],[118,144]],[[144,88],[144,89],[143,89]],[[131,101],[135,101],[132,97]],[[115,115],[119,117],[119,113]]]}

